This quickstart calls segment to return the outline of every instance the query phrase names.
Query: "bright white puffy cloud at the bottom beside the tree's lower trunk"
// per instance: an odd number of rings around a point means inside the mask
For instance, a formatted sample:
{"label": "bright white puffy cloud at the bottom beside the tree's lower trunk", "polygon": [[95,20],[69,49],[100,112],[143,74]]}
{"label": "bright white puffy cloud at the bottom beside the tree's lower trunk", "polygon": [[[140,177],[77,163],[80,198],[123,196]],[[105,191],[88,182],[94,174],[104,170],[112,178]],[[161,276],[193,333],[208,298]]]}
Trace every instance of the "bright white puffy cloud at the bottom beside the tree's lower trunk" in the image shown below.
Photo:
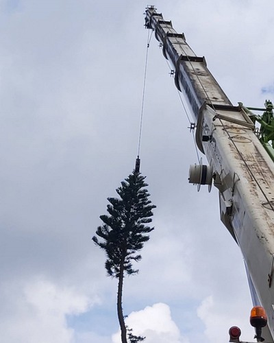
{"label": "bright white puffy cloud at the bottom beside the tree's lower trunk", "polygon": [[[147,306],[141,311],[134,311],[125,320],[133,329],[134,335],[145,336],[146,343],[187,343],[171,318],[171,310],[163,303]],[[113,343],[120,343],[120,332],[112,336]]]}

